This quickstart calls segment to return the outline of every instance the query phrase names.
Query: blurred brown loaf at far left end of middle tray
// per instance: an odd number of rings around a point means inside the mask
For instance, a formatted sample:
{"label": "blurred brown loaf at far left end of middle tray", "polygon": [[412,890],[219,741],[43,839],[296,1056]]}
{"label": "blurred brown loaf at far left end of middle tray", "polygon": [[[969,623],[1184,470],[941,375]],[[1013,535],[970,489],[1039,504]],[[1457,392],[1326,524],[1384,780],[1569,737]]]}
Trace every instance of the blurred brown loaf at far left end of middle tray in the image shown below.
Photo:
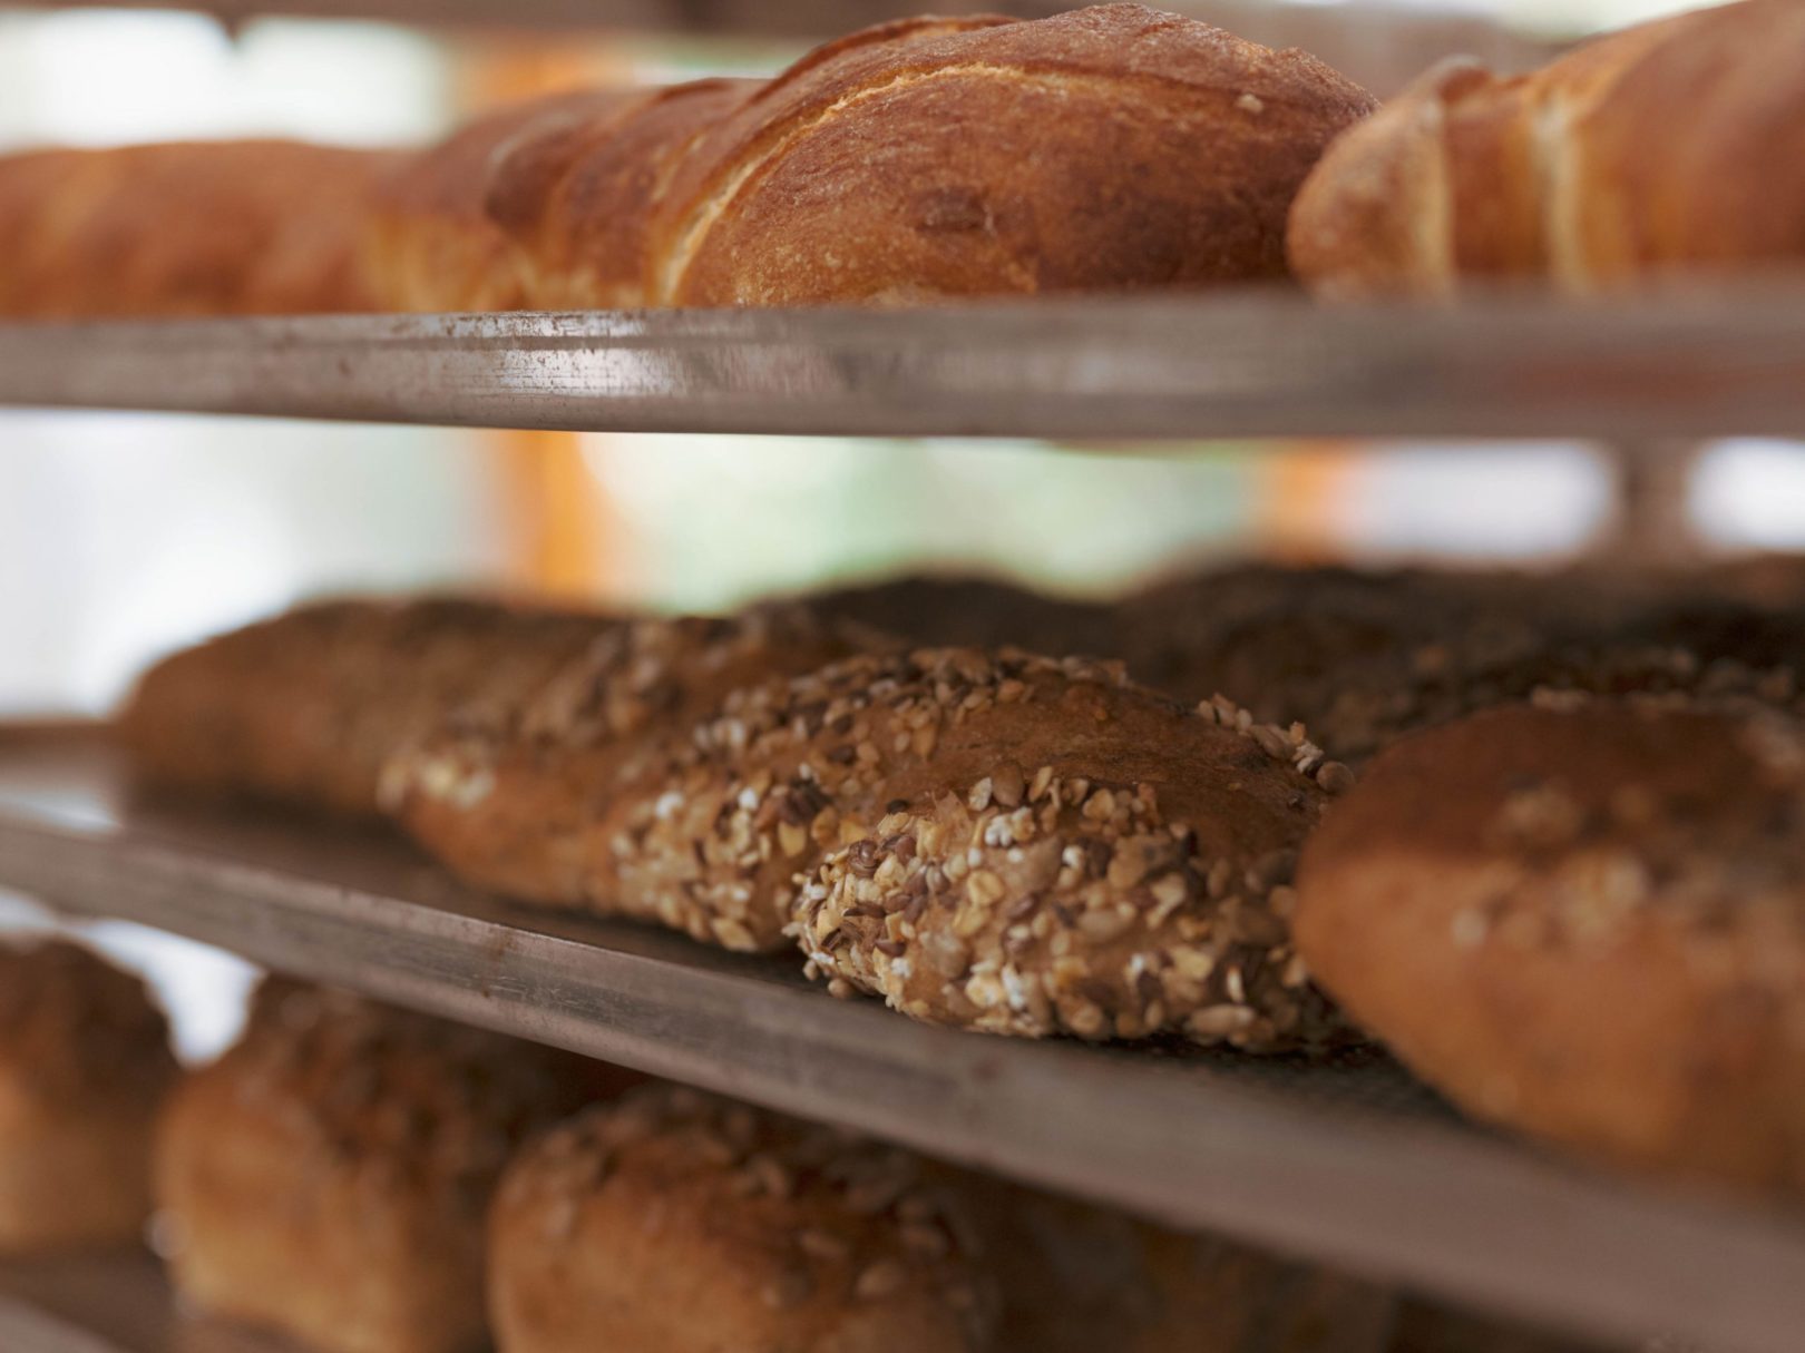
{"label": "blurred brown loaf at far left end of middle tray", "polygon": [[453,711],[513,705],[608,633],[594,613],[482,601],[330,601],[152,667],[119,716],[150,779],[350,815]]}

